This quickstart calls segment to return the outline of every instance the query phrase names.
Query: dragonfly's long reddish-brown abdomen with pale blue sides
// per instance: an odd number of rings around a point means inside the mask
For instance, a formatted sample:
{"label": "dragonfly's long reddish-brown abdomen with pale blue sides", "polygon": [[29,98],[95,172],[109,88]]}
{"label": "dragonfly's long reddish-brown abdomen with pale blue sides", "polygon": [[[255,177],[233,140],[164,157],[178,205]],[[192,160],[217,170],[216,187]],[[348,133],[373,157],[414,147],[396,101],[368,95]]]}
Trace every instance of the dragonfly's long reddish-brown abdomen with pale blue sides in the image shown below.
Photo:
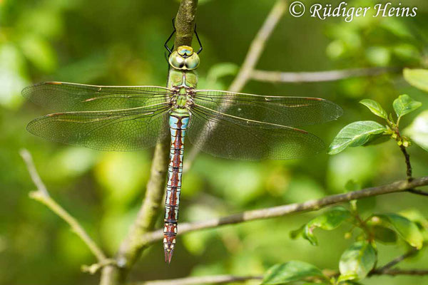
{"label": "dragonfly's long reddish-brown abdomen with pale blue sides", "polygon": [[180,205],[181,175],[183,174],[183,152],[185,130],[189,115],[170,114],[170,163],[168,165],[168,183],[166,185],[165,219],[163,227],[163,249],[165,262],[173,256],[175,237],[177,236],[178,207]]}

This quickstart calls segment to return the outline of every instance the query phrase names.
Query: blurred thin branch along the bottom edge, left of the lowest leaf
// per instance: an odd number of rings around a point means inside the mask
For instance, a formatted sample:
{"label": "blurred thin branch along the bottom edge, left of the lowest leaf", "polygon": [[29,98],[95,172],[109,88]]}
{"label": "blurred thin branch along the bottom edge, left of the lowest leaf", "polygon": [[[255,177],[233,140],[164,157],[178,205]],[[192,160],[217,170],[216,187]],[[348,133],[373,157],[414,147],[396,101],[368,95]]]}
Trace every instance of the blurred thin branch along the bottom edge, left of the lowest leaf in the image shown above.
{"label": "blurred thin branch along the bottom edge, left of the lowest leaf", "polygon": [[196,285],[196,284],[225,284],[245,282],[248,280],[260,280],[263,276],[234,276],[234,275],[213,275],[213,276],[195,276],[170,280],[153,280],[138,282],[131,285]]}

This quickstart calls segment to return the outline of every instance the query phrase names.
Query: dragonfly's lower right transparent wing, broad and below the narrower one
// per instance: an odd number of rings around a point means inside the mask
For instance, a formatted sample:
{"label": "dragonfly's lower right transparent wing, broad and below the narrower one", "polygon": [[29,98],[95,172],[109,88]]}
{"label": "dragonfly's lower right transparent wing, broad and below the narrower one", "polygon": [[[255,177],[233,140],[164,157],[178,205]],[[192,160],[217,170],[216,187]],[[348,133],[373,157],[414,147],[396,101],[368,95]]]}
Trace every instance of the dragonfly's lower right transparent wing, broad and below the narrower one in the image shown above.
{"label": "dragonfly's lower right transparent wing, broad and below the narrower one", "polygon": [[240,160],[287,160],[324,148],[317,136],[296,128],[245,120],[195,105],[190,142],[211,155]]}

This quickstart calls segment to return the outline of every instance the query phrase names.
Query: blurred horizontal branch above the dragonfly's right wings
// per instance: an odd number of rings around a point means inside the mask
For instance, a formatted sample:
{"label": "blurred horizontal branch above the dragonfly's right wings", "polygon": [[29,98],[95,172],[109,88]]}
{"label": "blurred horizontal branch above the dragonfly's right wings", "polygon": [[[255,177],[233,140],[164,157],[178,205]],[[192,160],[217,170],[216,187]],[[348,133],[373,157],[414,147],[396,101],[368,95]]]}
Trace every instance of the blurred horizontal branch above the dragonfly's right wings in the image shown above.
{"label": "blurred horizontal branch above the dragonfly's right wings", "polygon": [[315,72],[281,72],[281,71],[258,71],[251,73],[251,79],[270,83],[307,83],[339,81],[347,78],[380,76],[385,73],[397,73],[399,67],[374,67],[374,68],[351,68],[336,71]]}

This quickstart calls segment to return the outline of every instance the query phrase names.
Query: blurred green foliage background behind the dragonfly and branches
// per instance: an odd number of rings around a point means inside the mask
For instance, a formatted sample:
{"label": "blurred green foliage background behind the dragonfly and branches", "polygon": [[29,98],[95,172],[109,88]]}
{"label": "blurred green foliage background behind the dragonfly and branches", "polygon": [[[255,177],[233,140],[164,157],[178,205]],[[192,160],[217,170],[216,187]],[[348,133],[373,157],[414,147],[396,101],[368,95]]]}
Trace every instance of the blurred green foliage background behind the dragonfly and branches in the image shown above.
{"label": "blurred green foliage background behind the dragonfly and branches", "polygon": [[[327,1],[304,1],[307,4]],[[335,4],[339,1],[330,1]],[[384,3],[384,1],[380,1]],[[267,42],[258,68],[272,71],[323,71],[372,66],[426,67],[428,2],[414,18],[293,18],[286,14]],[[200,0],[198,33],[200,87],[228,88],[248,46],[275,1]],[[348,1],[373,6],[377,1]],[[393,4],[399,3],[392,1]],[[404,5],[404,4],[403,4]],[[51,195],[81,221],[91,236],[113,254],[136,217],[146,190],[153,150],[98,152],[58,145],[26,132],[26,123],[48,113],[25,102],[20,91],[39,81],[103,85],[165,86],[163,42],[178,1],[0,0],[0,284],[96,284],[98,276],[80,271],[95,259],[69,227],[43,205],[29,199],[34,190],[19,150],[27,148]],[[342,106],[339,120],[307,128],[328,144],[347,123],[377,120],[358,103],[392,101],[407,93],[427,110],[428,95],[409,86],[401,74],[330,83],[271,84],[250,81],[245,92],[316,96]],[[412,122],[414,115],[402,120]],[[380,122],[380,121],[379,121]],[[191,146],[188,145],[190,148]],[[427,175],[428,153],[409,149],[414,176]],[[165,165],[166,167],[166,165]],[[351,178],[363,187],[404,178],[405,166],[394,142],[325,153],[302,160],[240,162],[201,153],[183,176],[180,221],[196,221],[246,209],[303,202],[343,191]],[[371,212],[419,210],[427,199],[394,194],[363,199]],[[292,259],[337,269],[349,227],[317,232],[320,246],[289,232],[317,212],[294,214],[178,237],[172,264],[163,261],[161,242],[143,253],[131,280],[170,279],[206,274],[263,274],[272,264]],[[158,221],[161,227],[161,219]],[[404,252],[402,243],[379,246],[379,264]],[[428,255],[402,267],[421,268]],[[251,282],[250,282],[251,283]],[[256,282],[257,283],[257,282]],[[428,284],[422,277],[372,277],[363,284]]]}

